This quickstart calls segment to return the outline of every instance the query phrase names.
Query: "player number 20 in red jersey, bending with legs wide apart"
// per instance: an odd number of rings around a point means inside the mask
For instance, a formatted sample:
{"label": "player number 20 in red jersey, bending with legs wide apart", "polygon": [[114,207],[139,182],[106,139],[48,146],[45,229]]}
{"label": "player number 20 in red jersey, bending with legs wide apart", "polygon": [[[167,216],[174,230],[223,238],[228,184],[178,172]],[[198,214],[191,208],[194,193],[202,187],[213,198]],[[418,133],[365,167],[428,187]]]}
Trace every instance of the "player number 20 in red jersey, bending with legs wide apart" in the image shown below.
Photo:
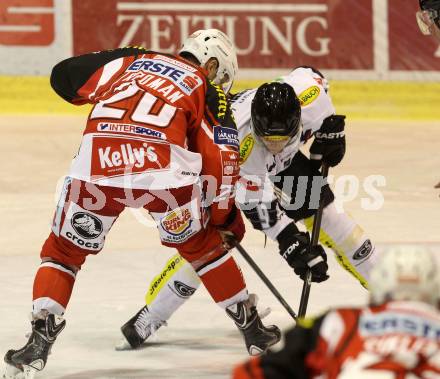
{"label": "player number 20 in red jersey, bending with legs wide apart", "polygon": [[162,244],[191,263],[248,349],[279,341],[278,328],[262,325],[222,239],[241,240],[245,231],[233,198],[237,130],[220,87],[230,89],[236,70],[235,49],[216,29],[192,34],[179,56],[129,47],[54,67],[55,92],[93,108],[41,250],[32,334],[23,348],[6,353],[6,378],[21,371],[29,378],[44,368],[65,326],[61,316],[77,272],[101,251],[127,206],[149,211]]}

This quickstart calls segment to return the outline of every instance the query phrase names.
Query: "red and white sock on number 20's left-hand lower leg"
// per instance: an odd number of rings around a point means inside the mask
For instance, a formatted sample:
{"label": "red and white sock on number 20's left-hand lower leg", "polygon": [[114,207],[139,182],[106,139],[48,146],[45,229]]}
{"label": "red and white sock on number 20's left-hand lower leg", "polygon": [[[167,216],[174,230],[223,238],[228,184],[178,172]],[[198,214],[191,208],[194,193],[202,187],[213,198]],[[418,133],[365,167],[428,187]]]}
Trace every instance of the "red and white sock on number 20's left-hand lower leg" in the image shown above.
{"label": "red and white sock on number 20's left-hand lower leg", "polygon": [[64,314],[75,284],[75,272],[58,262],[42,262],[34,279],[33,313]]}

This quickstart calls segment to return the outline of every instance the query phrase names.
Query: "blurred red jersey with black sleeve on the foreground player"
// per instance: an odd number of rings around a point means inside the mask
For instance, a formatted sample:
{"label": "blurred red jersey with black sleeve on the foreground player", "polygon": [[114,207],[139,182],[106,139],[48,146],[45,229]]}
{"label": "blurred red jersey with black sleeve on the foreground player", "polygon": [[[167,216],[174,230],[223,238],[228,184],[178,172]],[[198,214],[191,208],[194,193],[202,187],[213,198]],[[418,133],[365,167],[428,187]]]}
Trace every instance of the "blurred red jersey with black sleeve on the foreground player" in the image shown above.
{"label": "blurred red jersey with black sleeve on the foreground player", "polygon": [[297,325],[281,351],[234,378],[440,379],[440,313],[409,301],[336,309]]}

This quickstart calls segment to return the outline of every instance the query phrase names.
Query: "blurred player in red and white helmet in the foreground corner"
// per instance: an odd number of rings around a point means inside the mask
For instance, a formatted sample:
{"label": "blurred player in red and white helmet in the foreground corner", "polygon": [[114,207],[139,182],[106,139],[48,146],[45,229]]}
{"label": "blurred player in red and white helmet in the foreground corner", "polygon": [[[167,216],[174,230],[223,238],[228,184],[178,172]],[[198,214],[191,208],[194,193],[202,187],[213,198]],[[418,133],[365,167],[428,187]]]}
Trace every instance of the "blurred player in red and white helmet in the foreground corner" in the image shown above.
{"label": "blurred player in red and white helmet in the foreground corner", "polygon": [[282,350],[237,366],[233,378],[440,378],[439,299],[434,256],[391,250],[372,270],[368,306],[300,321]]}

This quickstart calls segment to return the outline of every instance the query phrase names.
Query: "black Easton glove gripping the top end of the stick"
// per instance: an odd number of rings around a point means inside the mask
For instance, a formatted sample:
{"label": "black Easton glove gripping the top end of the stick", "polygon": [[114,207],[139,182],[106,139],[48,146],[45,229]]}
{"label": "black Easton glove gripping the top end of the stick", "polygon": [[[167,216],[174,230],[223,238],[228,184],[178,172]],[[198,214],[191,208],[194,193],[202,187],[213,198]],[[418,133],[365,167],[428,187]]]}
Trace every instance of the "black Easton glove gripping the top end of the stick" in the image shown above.
{"label": "black Easton glove gripping the top end of the stick", "polygon": [[321,128],[315,133],[315,140],[310,146],[310,160],[318,170],[322,162],[330,167],[337,166],[345,154],[345,116],[327,117]]}

